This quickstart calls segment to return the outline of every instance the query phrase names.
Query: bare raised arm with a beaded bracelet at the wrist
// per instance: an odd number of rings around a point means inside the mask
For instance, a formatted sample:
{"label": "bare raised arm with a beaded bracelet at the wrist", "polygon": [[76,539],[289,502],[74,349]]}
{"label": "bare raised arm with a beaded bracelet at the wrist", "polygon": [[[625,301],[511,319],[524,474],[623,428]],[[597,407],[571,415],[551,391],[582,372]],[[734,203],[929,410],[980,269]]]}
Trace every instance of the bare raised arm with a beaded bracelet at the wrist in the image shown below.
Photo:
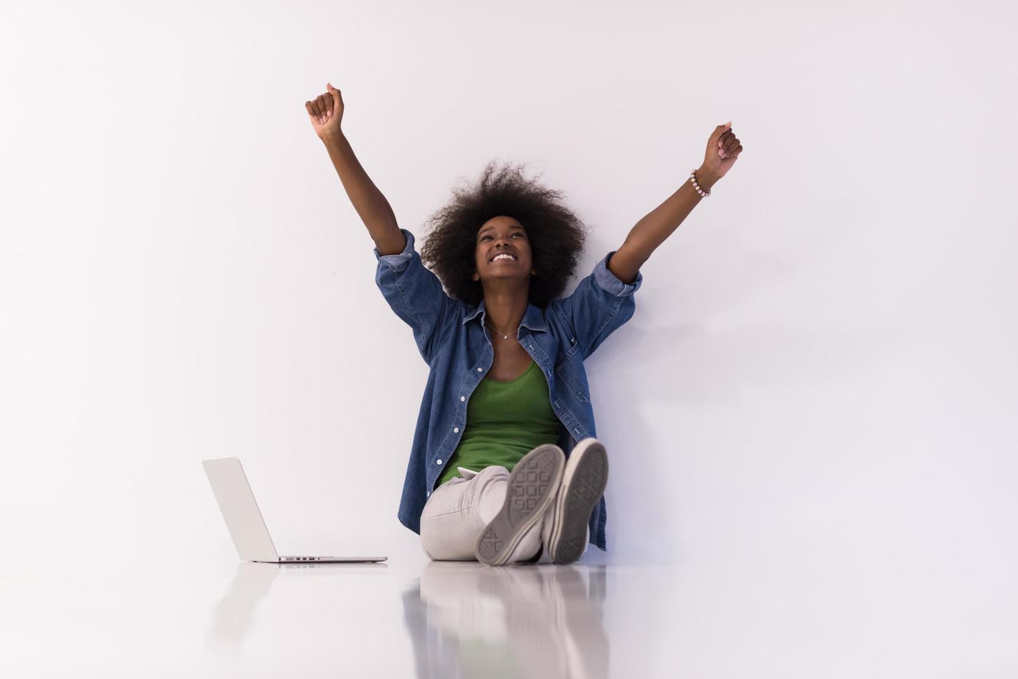
{"label": "bare raised arm with a beaded bracelet at the wrist", "polygon": [[[704,190],[725,176],[742,154],[742,145],[731,130],[731,123],[718,125],[706,144],[703,164],[695,170],[696,183]],[[629,284],[658,245],[672,235],[703,197],[692,181],[682,182],[678,190],[654,209],[629,231],[626,240],[612,256],[608,269],[623,283]]]}

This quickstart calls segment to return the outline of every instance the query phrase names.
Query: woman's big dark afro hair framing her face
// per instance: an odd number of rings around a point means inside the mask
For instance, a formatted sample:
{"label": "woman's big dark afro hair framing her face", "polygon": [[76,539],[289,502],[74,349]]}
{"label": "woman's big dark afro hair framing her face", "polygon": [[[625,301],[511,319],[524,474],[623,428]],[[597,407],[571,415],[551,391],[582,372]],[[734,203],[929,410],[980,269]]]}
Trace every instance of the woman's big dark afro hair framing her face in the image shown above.
{"label": "woman's big dark afro hair framing her face", "polygon": [[522,165],[491,161],[473,186],[454,188],[453,200],[426,224],[433,224],[420,259],[449,296],[478,304],[485,291],[472,280],[477,231],[493,217],[512,217],[526,229],[533,254],[530,303],[544,308],[562,294],[576,270],[586,233],[583,223],[560,202],[562,191],[522,174]]}

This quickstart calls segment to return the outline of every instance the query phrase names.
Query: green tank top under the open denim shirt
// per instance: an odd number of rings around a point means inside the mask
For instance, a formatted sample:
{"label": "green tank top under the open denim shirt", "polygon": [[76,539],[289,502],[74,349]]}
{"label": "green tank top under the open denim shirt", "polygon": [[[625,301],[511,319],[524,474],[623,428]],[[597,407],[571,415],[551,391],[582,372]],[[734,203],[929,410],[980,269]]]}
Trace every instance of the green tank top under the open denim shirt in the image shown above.
{"label": "green tank top under the open denim shirt", "polygon": [[552,409],[545,374],[531,359],[509,382],[485,378],[466,404],[466,427],[435,488],[462,474],[456,467],[480,471],[497,464],[510,471],[543,443],[556,443],[559,417]]}

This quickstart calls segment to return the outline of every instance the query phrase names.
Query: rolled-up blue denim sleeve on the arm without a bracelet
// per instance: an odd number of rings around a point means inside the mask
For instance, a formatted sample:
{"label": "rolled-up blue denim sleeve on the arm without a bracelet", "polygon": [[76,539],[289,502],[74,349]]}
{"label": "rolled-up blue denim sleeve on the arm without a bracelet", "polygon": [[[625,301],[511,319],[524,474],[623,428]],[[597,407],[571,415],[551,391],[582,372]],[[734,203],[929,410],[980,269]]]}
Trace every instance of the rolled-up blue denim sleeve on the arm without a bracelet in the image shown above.
{"label": "rolled-up blue denim sleeve on the arm without a bracelet", "polygon": [[374,247],[378,268],[375,283],[389,306],[413,330],[420,356],[429,364],[450,335],[458,304],[446,294],[438,276],[425,267],[413,247],[414,237],[400,228],[406,246],[398,254],[382,254]]}

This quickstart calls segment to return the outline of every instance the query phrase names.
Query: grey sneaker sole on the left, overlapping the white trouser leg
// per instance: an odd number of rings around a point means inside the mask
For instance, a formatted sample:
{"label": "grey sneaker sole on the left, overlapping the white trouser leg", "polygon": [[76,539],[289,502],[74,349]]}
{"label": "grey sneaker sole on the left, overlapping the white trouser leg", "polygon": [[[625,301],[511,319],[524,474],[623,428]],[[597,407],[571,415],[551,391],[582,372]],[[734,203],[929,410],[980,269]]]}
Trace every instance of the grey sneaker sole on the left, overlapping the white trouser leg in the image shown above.
{"label": "grey sneaker sole on the left, overlapping the white trouser leg", "polygon": [[551,506],[565,465],[562,449],[554,444],[538,446],[516,463],[509,474],[502,509],[477,536],[477,561],[489,566],[505,564],[526,531]]}

